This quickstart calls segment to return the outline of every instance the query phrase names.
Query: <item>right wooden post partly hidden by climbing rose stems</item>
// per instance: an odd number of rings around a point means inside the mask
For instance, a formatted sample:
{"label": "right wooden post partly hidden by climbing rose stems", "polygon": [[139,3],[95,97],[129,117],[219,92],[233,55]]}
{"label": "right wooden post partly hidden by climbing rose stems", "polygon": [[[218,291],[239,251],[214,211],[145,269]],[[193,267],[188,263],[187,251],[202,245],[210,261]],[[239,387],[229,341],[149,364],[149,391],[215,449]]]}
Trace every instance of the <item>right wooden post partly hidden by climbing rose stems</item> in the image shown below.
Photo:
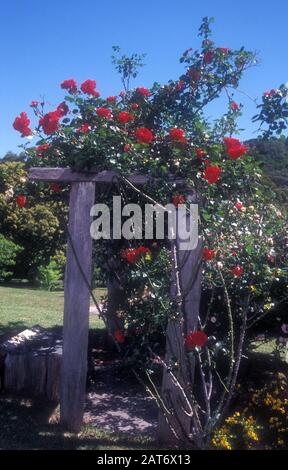
{"label": "right wooden post partly hidden by climbing rose stems", "polygon": [[[191,202],[196,202],[196,194],[192,193]],[[182,219],[179,222],[189,227],[189,215],[187,220]],[[194,383],[194,361],[187,358],[184,346],[184,337],[190,331],[194,331],[198,325],[198,315],[201,297],[201,255],[202,243],[198,239],[197,246],[190,250],[179,250],[181,236],[179,235],[179,225],[177,225],[176,240],[172,243],[172,288],[171,296],[177,301],[179,292],[177,283],[181,288],[182,293],[185,293],[184,300],[178,312],[175,312],[175,317],[171,318],[168,322],[166,334],[166,353],[165,363],[171,367],[171,370],[185,394],[189,397]],[[178,255],[175,259],[175,250]],[[178,278],[178,279],[177,279]],[[192,281],[192,282],[191,282]],[[179,387],[175,386],[175,381],[172,380],[169,370],[163,370],[162,379],[162,393],[161,397],[168,410],[173,414],[170,417],[170,424],[168,423],[162,411],[159,413],[158,424],[158,439],[163,443],[177,443],[179,441],[185,442],[188,436],[191,435],[193,429],[193,420],[189,414],[189,407],[183,393]],[[171,425],[176,431],[177,437],[171,430]]]}

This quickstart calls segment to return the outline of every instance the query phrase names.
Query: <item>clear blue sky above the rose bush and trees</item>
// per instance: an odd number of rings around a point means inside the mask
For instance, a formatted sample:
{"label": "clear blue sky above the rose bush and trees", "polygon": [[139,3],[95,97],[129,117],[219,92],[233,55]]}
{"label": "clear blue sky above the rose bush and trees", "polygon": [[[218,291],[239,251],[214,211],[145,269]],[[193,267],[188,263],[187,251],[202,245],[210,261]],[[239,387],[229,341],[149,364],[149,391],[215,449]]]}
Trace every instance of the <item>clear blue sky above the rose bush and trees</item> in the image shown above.
{"label": "clear blue sky above the rose bush and trees", "polygon": [[[218,46],[259,52],[261,63],[246,74],[243,91],[256,97],[288,81],[287,0],[2,0],[0,156],[23,141],[12,128],[15,116],[25,110],[32,116],[29,103],[43,95],[52,109],[62,100],[62,80],[93,78],[102,96],[118,93],[112,45],[147,53],[135,85],[177,78],[180,54],[199,45],[203,16],[214,16]],[[235,100],[245,105],[242,137],[251,137],[254,106],[241,94]]]}

